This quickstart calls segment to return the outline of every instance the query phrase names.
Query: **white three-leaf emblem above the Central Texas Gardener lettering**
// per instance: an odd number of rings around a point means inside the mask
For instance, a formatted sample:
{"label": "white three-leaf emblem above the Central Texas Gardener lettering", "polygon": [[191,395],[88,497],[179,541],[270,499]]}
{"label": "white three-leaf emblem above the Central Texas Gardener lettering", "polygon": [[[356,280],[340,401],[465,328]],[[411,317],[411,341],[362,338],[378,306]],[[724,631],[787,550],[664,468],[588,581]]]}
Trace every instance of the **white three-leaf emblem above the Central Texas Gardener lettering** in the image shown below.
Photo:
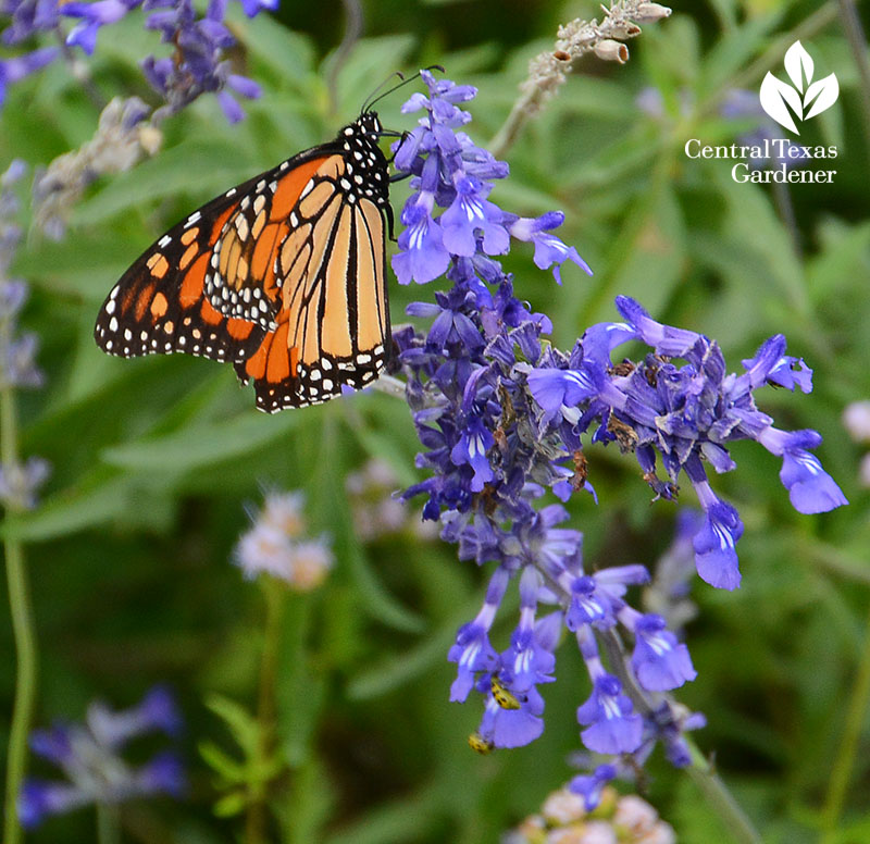
{"label": "white three-leaf emblem above the Central Texas Gardener lettering", "polygon": [[800,41],[795,41],[788,48],[784,64],[793,86],[768,72],[761,83],[759,99],[761,108],[776,123],[799,135],[795,117],[803,122],[830,109],[840,95],[840,85],[833,73],[823,79],[812,82],[812,57],[804,49]]}

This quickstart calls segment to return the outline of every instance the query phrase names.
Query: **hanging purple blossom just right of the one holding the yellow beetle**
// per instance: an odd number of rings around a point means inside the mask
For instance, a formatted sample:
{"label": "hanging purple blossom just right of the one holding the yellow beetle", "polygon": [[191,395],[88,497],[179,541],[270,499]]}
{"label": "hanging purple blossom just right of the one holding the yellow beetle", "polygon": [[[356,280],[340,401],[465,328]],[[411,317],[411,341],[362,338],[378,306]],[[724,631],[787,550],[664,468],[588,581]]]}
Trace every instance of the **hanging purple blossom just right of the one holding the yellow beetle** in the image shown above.
{"label": "hanging purple blossom just right of the one holding the yellow beetle", "polygon": [[577,707],[577,721],[589,724],[580,737],[595,753],[632,753],[641,746],[643,719],[612,674],[596,678],[592,696]]}

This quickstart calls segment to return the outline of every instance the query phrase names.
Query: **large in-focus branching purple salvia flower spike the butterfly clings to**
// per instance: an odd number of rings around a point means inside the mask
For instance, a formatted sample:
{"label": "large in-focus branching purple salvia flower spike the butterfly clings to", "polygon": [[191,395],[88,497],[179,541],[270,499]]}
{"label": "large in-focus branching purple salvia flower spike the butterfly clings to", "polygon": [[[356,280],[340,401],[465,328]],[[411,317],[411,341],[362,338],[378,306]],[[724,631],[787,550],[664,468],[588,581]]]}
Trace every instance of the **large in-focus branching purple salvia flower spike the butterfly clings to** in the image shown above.
{"label": "large in-focus branching purple salvia flower spike the butterfly clings to", "polygon": [[[785,340],[775,335],[744,361],[742,374],[729,373],[714,340],[658,322],[626,297],[617,299],[622,322],[591,326],[570,351],[544,343],[549,319],[517,298],[494,256],[507,251],[513,237],[534,243],[535,262],[542,269],[556,264],[557,280],[566,260],[588,268],[550,234],[561,213],[519,218],[490,200],[507,166],[458,131],[471,120],[459,105],[476,91],[428,72],[421,76],[428,96],[413,95],[402,111],[422,115],[394,147],[395,166],[410,175],[411,186],[394,264],[403,284],[445,274],[450,286],[434,301],[409,306],[410,315],[431,320],[426,333],[405,327],[394,334],[421,443],[417,466],[430,473],[402,497],[425,496],[423,518],[439,523],[460,559],[495,563],[484,606],[460,628],[448,655],[457,665],[450,699],[465,700],[472,691],[482,698],[473,746],[519,747],[535,740],[544,729],[538,686],[555,680],[564,626],[593,681],[589,699],[577,709],[586,746],[632,754],[632,765],[639,766],[661,743],[675,765],[684,765],[683,734],[703,717],[660,693],[695,678],[688,649],[661,616],[632,608],[629,591],[648,581],[645,567],[586,570],[583,535],[562,526],[569,512],[551,502],[548,491],[567,500],[592,489],[586,449],[611,443],[635,454],[657,498],[675,499],[678,480],[686,475],[704,517],[683,529],[679,571],[666,584],[674,594],[664,600],[685,595],[684,562],[691,566],[693,556],[705,580],[734,588],[743,525],[713,493],[706,467],[732,471],[729,444],[755,439],[791,461],[784,470],[790,491],[809,484],[816,491],[824,483],[812,467],[793,468],[806,460],[796,449],[806,454],[818,443],[786,447],[776,440],[773,420],[754,398],[766,384],[808,392],[811,371],[785,355]],[[627,342],[646,344],[647,353],[620,359],[618,347]],[[490,635],[511,581],[519,587],[519,622],[498,653]],[[543,607],[549,609],[538,618]],[[620,666],[619,678],[609,674],[599,646],[607,647],[611,665],[631,634],[632,659]],[[599,768],[577,779],[576,792],[592,804],[614,774],[616,765]]]}

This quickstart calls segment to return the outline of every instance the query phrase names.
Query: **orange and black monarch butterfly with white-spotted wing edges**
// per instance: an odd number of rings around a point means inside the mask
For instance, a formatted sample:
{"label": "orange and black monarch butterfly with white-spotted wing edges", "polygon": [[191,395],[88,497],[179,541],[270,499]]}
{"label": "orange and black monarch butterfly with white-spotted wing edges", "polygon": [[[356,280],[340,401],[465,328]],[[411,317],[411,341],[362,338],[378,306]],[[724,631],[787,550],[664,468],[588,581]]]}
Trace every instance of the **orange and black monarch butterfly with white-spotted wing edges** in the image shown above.
{"label": "orange and black monarch butterfly with white-spotted wing edges", "polygon": [[125,358],[232,361],[269,413],[374,381],[390,359],[377,113],[194,211],[124,273],[94,336]]}

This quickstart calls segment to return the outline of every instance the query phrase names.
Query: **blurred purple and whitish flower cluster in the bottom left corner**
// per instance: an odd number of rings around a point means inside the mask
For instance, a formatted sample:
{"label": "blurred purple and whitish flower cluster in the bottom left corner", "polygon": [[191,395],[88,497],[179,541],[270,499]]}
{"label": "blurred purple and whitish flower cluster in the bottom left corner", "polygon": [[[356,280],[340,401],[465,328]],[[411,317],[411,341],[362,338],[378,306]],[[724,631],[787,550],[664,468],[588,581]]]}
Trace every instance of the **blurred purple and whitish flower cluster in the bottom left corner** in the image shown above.
{"label": "blurred purple and whitish flower cluster in the bottom left corner", "polygon": [[181,716],[170,692],[157,686],[132,709],[113,711],[95,702],[85,723],[55,723],[34,730],[30,747],[58,767],[66,781],[25,780],[18,794],[18,819],[34,829],[51,815],[61,815],[94,803],[119,804],[140,797],[169,794],[179,797],[185,789],[182,764],[164,750],[139,766],[121,753],[130,741],[154,731],[177,735]]}

